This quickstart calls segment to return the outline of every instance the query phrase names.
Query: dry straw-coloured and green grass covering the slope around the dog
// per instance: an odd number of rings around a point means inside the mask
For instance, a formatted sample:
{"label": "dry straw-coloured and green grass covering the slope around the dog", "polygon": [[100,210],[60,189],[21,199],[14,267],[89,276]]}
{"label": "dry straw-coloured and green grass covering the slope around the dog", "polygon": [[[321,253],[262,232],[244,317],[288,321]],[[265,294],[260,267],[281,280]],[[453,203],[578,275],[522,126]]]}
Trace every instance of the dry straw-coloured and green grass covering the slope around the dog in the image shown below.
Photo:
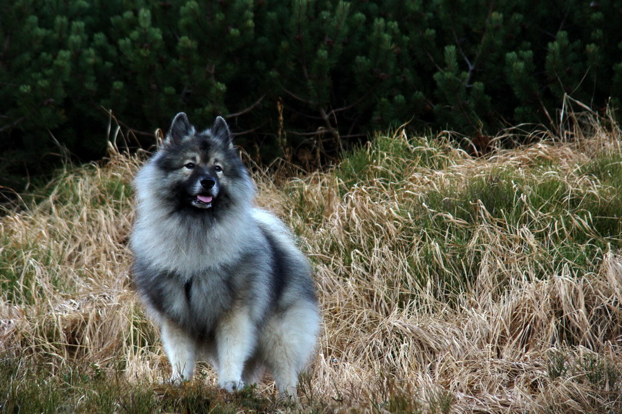
{"label": "dry straw-coloured and green grass covering the slope around the dog", "polygon": [[574,117],[487,157],[397,130],[326,172],[256,171],[317,270],[301,406],[269,378],[222,393],[207,365],[160,384],[126,246],[144,158],[68,166],[0,217],[0,412],[622,411],[622,134]]}

